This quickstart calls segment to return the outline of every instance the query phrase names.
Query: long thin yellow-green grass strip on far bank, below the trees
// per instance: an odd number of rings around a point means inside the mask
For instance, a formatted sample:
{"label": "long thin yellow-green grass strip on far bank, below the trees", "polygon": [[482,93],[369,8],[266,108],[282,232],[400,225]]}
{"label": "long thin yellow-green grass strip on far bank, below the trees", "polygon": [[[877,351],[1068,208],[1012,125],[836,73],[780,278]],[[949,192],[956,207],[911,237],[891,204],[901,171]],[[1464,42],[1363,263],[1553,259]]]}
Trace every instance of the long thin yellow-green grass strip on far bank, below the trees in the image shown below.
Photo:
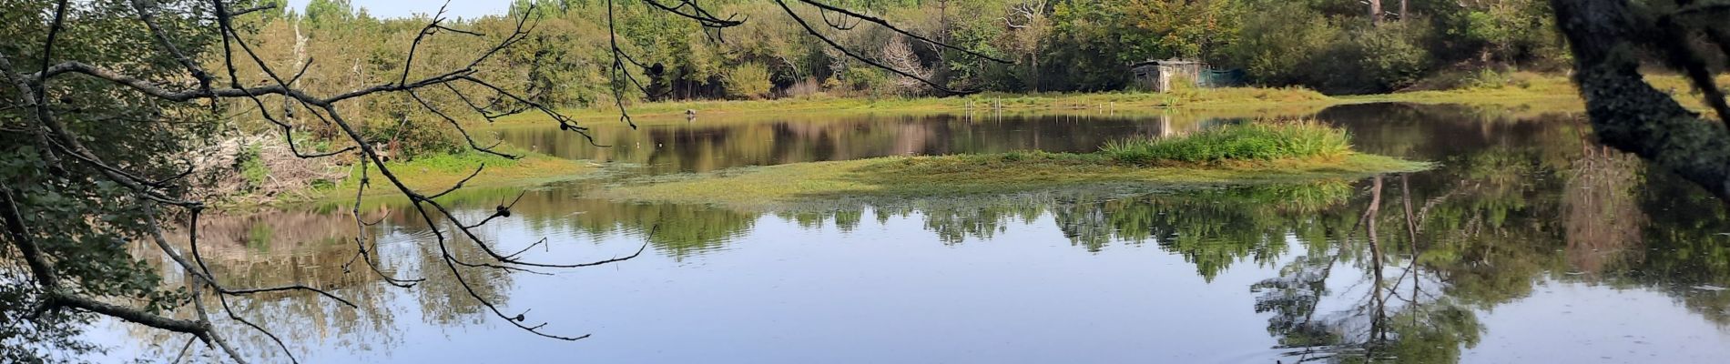
{"label": "long thin yellow-green grass strip on far bank, below the trees", "polygon": [[[1673,74],[1647,76],[1652,86],[1676,95],[1683,105],[1706,110],[1699,95],[1692,93],[1687,79]],[[1720,76],[1720,83],[1730,83],[1730,76]],[[1263,114],[1315,114],[1330,105],[1370,104],[1370,102],[1410,102],[1410,104],[1462,104],[1477,107],[1521,109],[1533,112],[1573,112],[1585,107],[1573,81],[1562,74],[1514,72],[1502,79],[1479,81],[1451,86],[1450,90],[1396,91],[1377,95],[1329,97],[1304,88],[1202,88],[1178,90],[1171,93],[1150,91],[1109,91],[1109,93],[979,93],[965,97],[924,97],[924,98],[843,98],[843,97],[803,97],[778,100],[701,100],[701,102],[647,102],[630,105],[628,110],[638,124],[685,122],[685,110],[697,112],[699,121],[768,121],[784,117],[789,112],[810,114],[848,114],[848,112],[896,112],[896,114],[957,114],[957,112],[1003,112],[1003,114],[1163,114],[1163,112],[1227,112],[1232,116]],[[612,122],[619,110],[607,107],[573,109],[569,116],[592,121]],[[538,114],[522,114],[500,119],[495,126],[531,126],[547,124]]]}

